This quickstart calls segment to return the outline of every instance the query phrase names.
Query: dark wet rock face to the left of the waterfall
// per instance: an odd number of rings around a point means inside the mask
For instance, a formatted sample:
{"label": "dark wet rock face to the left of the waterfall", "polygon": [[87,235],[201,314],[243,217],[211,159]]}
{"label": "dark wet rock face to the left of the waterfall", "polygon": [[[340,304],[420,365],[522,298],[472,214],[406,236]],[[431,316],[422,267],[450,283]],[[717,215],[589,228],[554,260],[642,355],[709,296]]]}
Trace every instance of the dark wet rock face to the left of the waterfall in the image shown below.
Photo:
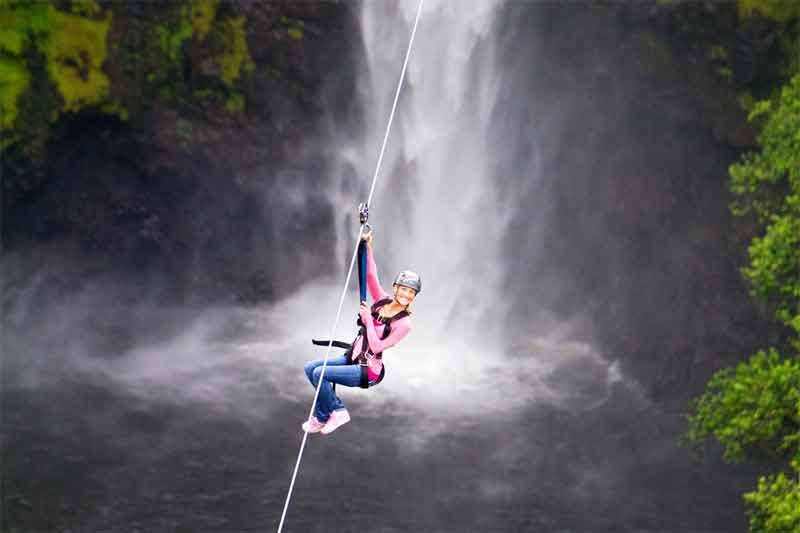
{"label": "dark wet rock face to the left of the waterfall", "polygon": [[[352,112],[354,6],[185,4],[102,4],[107,100],[52,124],[23,117],[35,127],[20,135],[46,142],[4,149],[5,244],[26,255],[62,243],[81,251],[54,261],[152,274],[170,298],[274,297],[321,263],[279,247],[330,252],[325,157],[310,133],[323,108]],[[20,102],[53,96],[44,74],[34,81]],[[317,192],[276,210],[288,187]]]}

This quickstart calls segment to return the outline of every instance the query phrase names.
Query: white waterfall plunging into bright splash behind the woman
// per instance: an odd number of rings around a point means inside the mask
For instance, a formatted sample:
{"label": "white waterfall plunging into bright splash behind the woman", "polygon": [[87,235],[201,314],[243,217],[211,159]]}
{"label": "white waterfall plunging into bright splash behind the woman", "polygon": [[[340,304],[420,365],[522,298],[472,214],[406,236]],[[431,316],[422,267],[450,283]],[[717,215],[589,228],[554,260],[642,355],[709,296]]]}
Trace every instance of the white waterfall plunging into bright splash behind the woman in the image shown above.
{"label": "white waterfall plunging into bright splash behind the woman", "polygon": [[[507,372],[514,355],[508,333],[521,324],[505,316],[514,295],[502,290],[501,245],[511,211],[501,191],[518,186],[506,182],[519,178],[501,174],[493,157],[500,143],[491,137],[491,122],[498,106],[513,105],[498,100],[504,73],[495,61],[493,22],[499,5],[425,4],[371,206],[384,288],[402,268],[418,271],[423,279],[414,331],[387,353],[387,367],[398,383],[394,394],[408,394],[403,401],[436,398],[453,408],[462,393],[478,390],[490,409],[557,400],[574,391],[544,383],[553,370],[548,361],[578,358],[591,360],[600,373],[609,368],[588,346],[540,338],[538,357],[515,358],[526,384],[509,381],[515,378]],[[338,187],[360,187],[359,199],[367,195],[416,6],[412,1],[363,5],[364,130],[338,150],[341,168],[357,175],[357,180],[346,175]],[[533,173],[525,179],[538,178]],[[338,191],[333,196],[342,198]],[[353,214],[341,213],[337,227],[338,241],[350,246]],[[429,384],[443,375],[450,385],[431,389]],[[509,386],[522,390],[514,401],[501,401]]]}

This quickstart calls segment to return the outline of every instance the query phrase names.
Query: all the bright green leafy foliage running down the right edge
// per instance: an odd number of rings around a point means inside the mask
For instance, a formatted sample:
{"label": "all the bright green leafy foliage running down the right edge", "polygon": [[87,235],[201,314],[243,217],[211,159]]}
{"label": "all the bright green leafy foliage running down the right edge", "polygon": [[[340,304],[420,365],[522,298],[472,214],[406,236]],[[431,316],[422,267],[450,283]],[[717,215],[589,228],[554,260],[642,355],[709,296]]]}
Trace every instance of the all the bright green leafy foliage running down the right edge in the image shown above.
{"label": "all the bright green leafy foliage running down the right edge", "polygon": [[800,531],[800,73],[775,98],[757,103],[761,150],[731,166],[732,206],[752,216],[758,234],[742,269],[753,294],[787,326],[785,346],[759,351],[711,379],[689,417],[690,441],[713,436],[724,457],[748,452],[785,462],[745,495],[750,531]]}

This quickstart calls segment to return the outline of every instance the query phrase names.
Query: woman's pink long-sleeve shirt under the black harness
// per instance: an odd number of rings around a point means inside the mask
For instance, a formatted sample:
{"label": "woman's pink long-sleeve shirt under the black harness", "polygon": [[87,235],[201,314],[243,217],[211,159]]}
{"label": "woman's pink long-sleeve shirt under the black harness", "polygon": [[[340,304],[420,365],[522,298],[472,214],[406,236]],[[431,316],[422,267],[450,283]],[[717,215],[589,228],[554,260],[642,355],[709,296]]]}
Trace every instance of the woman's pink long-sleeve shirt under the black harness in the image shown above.
{"label": "woman's pink long-sleeve shirt under the black harness", "polygon": [[[375,264],[375,258],[372,256],[372,247],[367,247],[367,287],[369,288],[372,300],[377,302],[384,298],[392,298],[392,295],[383,290],[380,281],[378,280],[378,267]],[[404,316],[392,322],[392,331],[389,336],[381,340],[386,324],[378,322],[372,318],[369,309],[361,313],[361,322],[367,331],[367,341],[369,342],[369,351],[367,352],[367,376],[370,380],[378,379],[383,369],[383,362],[376,358],[374,354],[386,351],[386,349],[394,346],[400,342],[403,337],[408,335],[411,331],[411,317]],[[356,337],[353,346],[353,359],[358,357],[361,353],[361,346],[364,339],[361,335]]]}

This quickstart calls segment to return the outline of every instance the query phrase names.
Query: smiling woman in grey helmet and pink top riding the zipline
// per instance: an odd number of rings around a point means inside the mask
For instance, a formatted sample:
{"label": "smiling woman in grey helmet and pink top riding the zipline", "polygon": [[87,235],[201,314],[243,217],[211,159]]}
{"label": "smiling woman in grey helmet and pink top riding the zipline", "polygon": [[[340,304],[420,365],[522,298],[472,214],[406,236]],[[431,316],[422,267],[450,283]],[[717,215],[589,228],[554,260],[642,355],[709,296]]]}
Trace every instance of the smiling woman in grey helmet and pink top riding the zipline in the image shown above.
{"label": "smiling woman in grey helmet and pink top riding the zipline", "polygon": [[[370,308],[366,302],[361,302],[358,336],[343,355],[328,359],[314,415],[303,423],[303,430],[308,433],[327,435],[349,422],[350,414],[336,395],[334,383],[346,387],[377,385],[384,374],[382,352],[400,342],[411,330],[409,305],[422,289],[419,276],[410,270],[400,272],[392,284],[394,296],[390,295],[378,281],[378,269],[372,256],[372,233],[367,233],[363,239],[367,245],[367,287],[375,304]],[[322,375],[323,362],[319,359],[305,365],[306,376],[315,388]],[[366,373],[362,367],[366,368]],[[366,379],[362,379],[362,374]]]}

